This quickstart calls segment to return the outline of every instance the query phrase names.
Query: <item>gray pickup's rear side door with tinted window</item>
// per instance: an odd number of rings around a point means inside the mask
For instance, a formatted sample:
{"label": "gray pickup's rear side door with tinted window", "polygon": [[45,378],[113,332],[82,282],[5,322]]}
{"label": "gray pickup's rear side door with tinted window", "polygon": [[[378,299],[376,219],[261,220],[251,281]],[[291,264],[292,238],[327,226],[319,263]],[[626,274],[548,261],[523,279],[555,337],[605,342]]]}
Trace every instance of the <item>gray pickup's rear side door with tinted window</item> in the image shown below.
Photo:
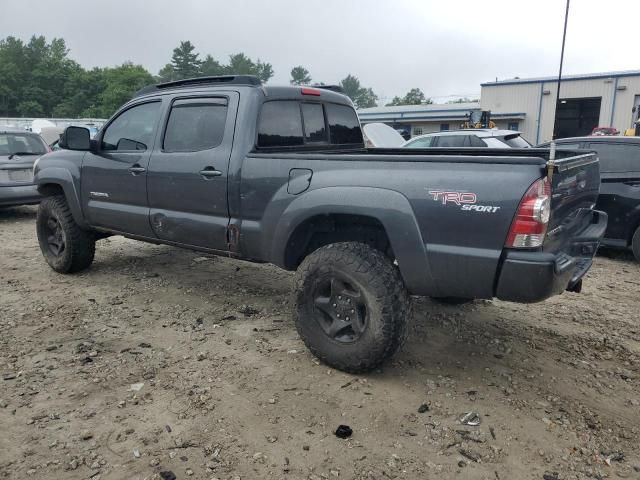
{"label": "gray pickup's rear side door with tinted window", "polygon": [[147,178],[150,219],[158,238],[227,250],[227,175],[237,92],[176,96]]}

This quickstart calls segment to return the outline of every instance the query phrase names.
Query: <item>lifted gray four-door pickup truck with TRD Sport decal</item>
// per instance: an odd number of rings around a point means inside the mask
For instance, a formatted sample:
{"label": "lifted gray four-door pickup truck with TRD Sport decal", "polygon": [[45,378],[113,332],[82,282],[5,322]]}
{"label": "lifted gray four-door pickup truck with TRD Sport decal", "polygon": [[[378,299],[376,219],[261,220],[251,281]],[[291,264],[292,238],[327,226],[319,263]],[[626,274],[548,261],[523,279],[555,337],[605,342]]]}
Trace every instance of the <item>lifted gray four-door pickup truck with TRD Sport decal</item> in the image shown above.
{"label": "lifted gray four-door pickup truck with TRD Sport decal", "polygon": [[595,155],[367,149],[332,87],[209,77],[138,92],[69,127],[34,166],[37,234],[60,273],[124,235],[296,274],[296,326],[325,363],[371,370],[401,346],[410,295],[537,302],[581,279],[605,231]]}

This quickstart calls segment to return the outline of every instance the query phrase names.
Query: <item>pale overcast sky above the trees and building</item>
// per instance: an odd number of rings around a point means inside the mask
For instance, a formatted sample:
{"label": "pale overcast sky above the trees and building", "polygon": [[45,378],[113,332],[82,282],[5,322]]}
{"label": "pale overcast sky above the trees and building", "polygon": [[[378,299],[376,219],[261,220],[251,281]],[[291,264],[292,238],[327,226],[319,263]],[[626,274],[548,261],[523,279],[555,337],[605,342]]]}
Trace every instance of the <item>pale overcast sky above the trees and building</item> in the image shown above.
{"label": "pale overcast sky above the trees and building", "polygon": [[[0,0],[0,37],[62,37],[85,67],[131,60],[152,73],[180,40],[204,57],[270,62],[272,84],[303,65],[347,74],[389,101],[478,95],[480,83],[556,75],[564,0]],[[565,73],[640,69],[640,1],[572,0]]]}

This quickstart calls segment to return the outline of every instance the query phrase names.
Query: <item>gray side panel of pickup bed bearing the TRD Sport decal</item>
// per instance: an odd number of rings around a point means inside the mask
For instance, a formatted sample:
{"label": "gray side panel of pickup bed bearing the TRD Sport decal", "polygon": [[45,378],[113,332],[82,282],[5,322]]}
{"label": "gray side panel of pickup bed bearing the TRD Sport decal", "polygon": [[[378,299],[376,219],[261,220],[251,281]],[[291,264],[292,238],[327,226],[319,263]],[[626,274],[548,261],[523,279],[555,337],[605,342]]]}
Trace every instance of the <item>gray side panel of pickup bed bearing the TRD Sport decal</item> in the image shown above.
{"label": "gray side panel of pickup bed bearing the TRD Sport decal", "polygon": [[[420,275],[430,278],[423,283],[423,288],[412,293],[491,298],[511,220],[524,192],[542,176],[544,162],[531,158],[512,163],[492,163],[479,157],[467,162],[451,159],[451,156],[428,159],[399,156],[380,161],[379,155],[364,154],[250,154],[242,163],[241,211],[237,215],[242,219],[243,253],[281,263],[272,256],[279,247],[272,242],[277,229],[295,228],[296,225],[282,225],[280,219],[287,218],[286,212],[295,208],[296,202],[302,202],[311,192],[318,195],[322,189],[327,192],[331,189],[331,200],[321,211],[327,215],[339,213],[334,208],[340,207],[343,201],[356,203],[353,196],[350,200],[341,199],[340,188],[343,187],[346,194],[353,187],[362,187],[359,191],[367,196],[364,204],[372,207],[362,207],[363,214],[377,211],[387,219],[389,215],[406,217],[393,223],[392,228],[400,230],[393,232],[396,236],[409,236],[415,234],[411,230],[418,230],[421,252],[413,256],[394,252],[405,278]],[[293,168],[313,172],[309,189],[298,195],[287,191],[287,179]],[[401,195],[406,199],[408,212],[400,211],[401,207],[397,212],[390,211],[395,207],[385,204],[389,197],[377,193],[381,191]],[[433,192],[449,192],[458,197],[449,195],[444,201],[444,197]],[[461,198],[467,203],[460,202]],[[472,198],[474,202],[469,203]],[[464,205],[491,208],[465,210]],[[354,214],[360,208],[346,206],[351,207]],[[232,221],[233,217],[232,213]],[[413,261],[418,257],[426,258],[427,264]],[[407,260],[402,261],[403,258]]]}

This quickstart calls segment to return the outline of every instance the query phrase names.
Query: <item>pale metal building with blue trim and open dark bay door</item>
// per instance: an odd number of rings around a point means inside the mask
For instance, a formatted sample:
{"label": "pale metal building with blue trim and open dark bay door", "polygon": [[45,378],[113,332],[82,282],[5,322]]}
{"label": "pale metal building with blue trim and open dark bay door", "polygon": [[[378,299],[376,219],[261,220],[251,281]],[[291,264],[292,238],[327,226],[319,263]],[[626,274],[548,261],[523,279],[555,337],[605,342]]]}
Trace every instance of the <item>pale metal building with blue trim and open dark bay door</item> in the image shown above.
{"label": "pale metal building with blue trim and open dark bay door", "polygon": [[[500,129],[518,130],[531,143],[551,140],[557,77],[514,78],[481,85],[480,104],[405,105],[358,111],[364,124],[384,122],[411,136],[455,130],[471,111],[490,110]],[[640,70],[565,75],[557,109],[557,136],[588,135],[594,127],[621,134],[640,115]]]}

